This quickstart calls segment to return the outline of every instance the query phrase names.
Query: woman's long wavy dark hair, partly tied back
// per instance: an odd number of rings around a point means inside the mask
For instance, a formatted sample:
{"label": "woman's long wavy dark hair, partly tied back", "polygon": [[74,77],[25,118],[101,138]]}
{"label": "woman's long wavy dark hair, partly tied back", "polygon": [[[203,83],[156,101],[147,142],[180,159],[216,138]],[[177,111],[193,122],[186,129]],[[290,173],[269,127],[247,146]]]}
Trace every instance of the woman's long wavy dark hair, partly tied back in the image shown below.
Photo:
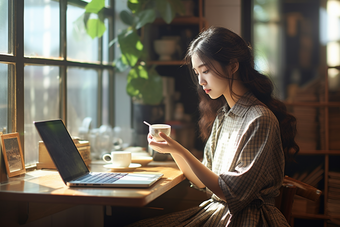
{"label": "woman's long wavy dark hair, partly tied back", "polygon": [[[229,65],[231,61],[239,62],[238,80],[241,80],[245,87],[251,91],[257,99],[264,103],[276,116],[280,124],[281,140],[283,150],[287,160],[299,151],[299,146],[295,142],[296,136],[296,119],[287,113],[284,103],[273,97],[274,86],[271,80],[254,69],[254,59],[251,49],[247,43],[237,34],[222,27],[210,27],[203,31],[188,48],[185,57],[186,63],[190,67],[194,81],[197,84],[197,92],[200,103],[200,136],[207,140],[212,129],[217,111],[226,104],[223,96],[218,99],[211,99],[206,95],[197,81],[197,76],[192,70],[191,58],[194,54],[207,64],[210,70],[213,70],[218,76],[226,78],[225,73],[218,72],[212,61],[218,62],[222,68]],[[231,78],[230,78],[231,76]],[[235,97],[236,94],[231,90],[235,75],[229,75],[230,94]]]}

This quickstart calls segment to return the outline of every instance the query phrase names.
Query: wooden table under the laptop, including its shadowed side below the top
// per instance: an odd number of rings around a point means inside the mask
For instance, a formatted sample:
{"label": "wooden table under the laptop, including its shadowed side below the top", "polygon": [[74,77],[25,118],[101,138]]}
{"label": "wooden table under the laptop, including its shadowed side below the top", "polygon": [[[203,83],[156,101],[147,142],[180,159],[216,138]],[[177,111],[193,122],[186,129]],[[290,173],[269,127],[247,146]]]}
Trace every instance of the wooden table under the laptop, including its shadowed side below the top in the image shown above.
{"label": "wooden table under the laptop, including its shadowed side below the top", "polygon": [[[91,164],[91,171],[108,171],[103,164]],[[0,226],[25,224],[76,205],[142,208],[185,179],[173,161],[151,162],[134,172],[164,175],[149,188],[67,187],[56,170],[36,170],[12,177],[0,184]]]}

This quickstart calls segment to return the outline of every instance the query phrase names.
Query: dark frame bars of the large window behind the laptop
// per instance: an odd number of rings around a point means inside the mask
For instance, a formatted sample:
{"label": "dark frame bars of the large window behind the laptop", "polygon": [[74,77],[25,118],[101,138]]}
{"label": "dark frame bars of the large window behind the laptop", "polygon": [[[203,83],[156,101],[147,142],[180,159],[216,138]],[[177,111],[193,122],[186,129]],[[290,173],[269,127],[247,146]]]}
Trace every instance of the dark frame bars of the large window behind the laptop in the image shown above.
{"label": "dark frame bars of the large window behind the laptop", "polygon": [[[8,120],[6,133],[18,132],[20,141],[24,144],[24,67],[28,65],[38,66],[58,66],[59,67],[59,117],[67,125],[67,68],[79,67],[85,69],[94,69],[98,75],[98,95],[97,95],[97,122],[103,122],[103,72],[107,70],[109,73],[109,119],[110,125],[114,125],[114,47],[109,47],[108,62],[103,62],[103,38],[98,40],[98,61],[82,62],[70,61],[67,59],[67,36],[66,36],[66,14],[67,5],[72,4],[77,7],[84,8],[86,2],[81,0],[59,0],[60,9],[60,50],[59,58],[48,57],[27,57],[24,55],[24,1],[8,2],[8,53],[0,53],[0,63],[8,64]],[[110,7],[105,8],[104,15],[108,19],[109,40],[114,38],[114,0],[110,0]],[[14,48],[15,47],[15,48]],[[11,66],[11,67],[10,67]],[[23,147],[23,153],[25,149]]]}

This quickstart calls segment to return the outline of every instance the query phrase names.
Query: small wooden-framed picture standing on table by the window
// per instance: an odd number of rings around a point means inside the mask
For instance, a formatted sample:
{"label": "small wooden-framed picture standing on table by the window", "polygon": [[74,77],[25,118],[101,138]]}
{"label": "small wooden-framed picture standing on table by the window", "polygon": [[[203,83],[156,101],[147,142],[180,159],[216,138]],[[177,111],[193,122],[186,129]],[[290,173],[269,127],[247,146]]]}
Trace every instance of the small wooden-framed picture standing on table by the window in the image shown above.
{"label": "small wooden-framed picture standing on table by the window", "polygon": [[26,173],[19,133],[2,134],[1,147],[8,177]]}

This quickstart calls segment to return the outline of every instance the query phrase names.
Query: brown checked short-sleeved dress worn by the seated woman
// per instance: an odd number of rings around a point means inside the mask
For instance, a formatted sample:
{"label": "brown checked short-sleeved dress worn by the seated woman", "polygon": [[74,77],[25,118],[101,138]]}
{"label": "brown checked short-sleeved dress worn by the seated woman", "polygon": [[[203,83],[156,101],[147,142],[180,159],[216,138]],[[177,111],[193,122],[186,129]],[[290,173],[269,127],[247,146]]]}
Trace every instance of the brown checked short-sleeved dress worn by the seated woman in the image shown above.
{"label": "brown checked short-sleeved dress worn by the seated woman", "polygon": [[219,175],[226,201],[211,193],[199,207],[131,226],[289,226],[274,206],[284,177],[279,123],[252,93],[218,111],[203,163]]}

